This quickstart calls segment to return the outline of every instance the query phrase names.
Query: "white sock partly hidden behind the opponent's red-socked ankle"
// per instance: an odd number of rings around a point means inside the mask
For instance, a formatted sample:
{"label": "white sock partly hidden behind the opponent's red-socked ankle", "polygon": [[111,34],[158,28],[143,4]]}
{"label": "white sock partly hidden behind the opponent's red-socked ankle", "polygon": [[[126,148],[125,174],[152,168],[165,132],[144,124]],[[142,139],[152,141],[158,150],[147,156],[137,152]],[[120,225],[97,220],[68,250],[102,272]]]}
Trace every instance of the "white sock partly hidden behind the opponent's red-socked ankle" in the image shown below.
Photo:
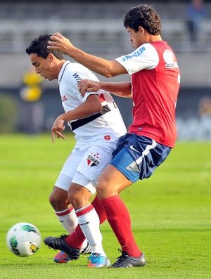
{"label": "white sock partly hidden behind the opponent's red-socked ankle", "polygon": [[[72,234],[72,232],[75,230],[78,224],[77,216],[75,214],[74,208],[71,206],[68,209],[65,209],[61,212],[55,212],[56,216],[58,217],[58,220],[63,225],[66,231]],[[84,240],[82,249],[87,247],[87,239]]]}

